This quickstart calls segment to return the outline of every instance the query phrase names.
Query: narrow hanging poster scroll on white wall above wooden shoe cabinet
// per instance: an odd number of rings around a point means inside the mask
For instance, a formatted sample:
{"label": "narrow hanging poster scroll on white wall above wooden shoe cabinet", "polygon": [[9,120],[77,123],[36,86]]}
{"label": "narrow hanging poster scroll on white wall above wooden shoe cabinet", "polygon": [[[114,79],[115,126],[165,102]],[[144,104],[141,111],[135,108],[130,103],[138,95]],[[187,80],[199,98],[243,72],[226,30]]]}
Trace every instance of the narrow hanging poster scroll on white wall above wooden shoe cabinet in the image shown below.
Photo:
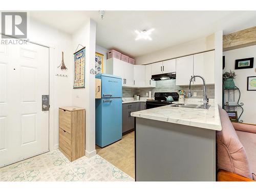
{"label": "narrow hanging poster scroll on white wall above wooden shoe cabinet", "polygon": [[86,69],[86,47],[74,53],[74,86],[73,89],[84,88]]}

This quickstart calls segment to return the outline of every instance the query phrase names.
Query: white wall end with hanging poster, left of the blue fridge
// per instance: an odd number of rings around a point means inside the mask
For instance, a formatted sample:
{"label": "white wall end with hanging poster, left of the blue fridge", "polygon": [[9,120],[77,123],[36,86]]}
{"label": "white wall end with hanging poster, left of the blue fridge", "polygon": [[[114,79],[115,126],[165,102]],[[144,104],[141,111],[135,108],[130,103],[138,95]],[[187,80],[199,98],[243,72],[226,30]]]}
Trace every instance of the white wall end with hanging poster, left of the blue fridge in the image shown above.
{"label": "white wall end with hanging poster, left of the blue fridge", "polygon": [[[72,105],[86,109],[86,156],[92,157],[96,155],[95,75],[90,74],[90,70],[95,69],[96,23],[88,18],[84,26],[72,36],[72,41],[73,52],[75,52],[78,44],[86,47],[85,88],[72,90]],[[79,47],[78,50],[80,48],[81,47]]]}

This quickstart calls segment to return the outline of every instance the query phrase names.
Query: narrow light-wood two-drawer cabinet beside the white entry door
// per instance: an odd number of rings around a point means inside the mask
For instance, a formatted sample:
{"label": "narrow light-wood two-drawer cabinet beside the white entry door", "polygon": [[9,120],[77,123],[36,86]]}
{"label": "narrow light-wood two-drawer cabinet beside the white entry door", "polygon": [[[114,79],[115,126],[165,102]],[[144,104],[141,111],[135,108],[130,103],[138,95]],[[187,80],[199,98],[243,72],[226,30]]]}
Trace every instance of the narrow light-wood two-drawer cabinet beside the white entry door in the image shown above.
{"label": "narrow light-wood two-drawer cabinet beside the white entry door", "polygon": [[59,150],[74,161],[86,150],[86,112],[76,106],[59,108]]}

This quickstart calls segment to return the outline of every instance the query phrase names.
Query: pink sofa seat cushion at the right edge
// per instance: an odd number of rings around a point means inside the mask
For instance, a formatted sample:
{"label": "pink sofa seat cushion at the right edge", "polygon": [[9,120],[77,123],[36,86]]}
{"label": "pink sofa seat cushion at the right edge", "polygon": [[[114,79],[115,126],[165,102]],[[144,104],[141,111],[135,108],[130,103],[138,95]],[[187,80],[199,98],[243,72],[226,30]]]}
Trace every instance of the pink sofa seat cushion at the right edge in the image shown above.
{"label": "pink sofa seat cushion at the right edge", "polygon": [[237,135],[248,156],[251,172],[254,174],[254,176],[252,175],[254,177],[253,180],[256,180],[256,134],[237,131]]}

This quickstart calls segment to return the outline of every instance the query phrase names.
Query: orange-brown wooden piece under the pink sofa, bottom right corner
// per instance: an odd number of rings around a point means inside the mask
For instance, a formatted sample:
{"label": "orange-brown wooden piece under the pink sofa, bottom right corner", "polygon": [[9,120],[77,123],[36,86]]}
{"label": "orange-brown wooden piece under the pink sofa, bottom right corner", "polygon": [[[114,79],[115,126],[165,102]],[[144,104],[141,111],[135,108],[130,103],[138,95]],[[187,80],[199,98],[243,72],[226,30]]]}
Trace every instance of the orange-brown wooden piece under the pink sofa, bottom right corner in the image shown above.
{"label": "orange-brown wooden piece under the pink sofa, bottom right corner", "polygon": [[254,181],[254,180],[220,169],[218,171],[217,181]]}

